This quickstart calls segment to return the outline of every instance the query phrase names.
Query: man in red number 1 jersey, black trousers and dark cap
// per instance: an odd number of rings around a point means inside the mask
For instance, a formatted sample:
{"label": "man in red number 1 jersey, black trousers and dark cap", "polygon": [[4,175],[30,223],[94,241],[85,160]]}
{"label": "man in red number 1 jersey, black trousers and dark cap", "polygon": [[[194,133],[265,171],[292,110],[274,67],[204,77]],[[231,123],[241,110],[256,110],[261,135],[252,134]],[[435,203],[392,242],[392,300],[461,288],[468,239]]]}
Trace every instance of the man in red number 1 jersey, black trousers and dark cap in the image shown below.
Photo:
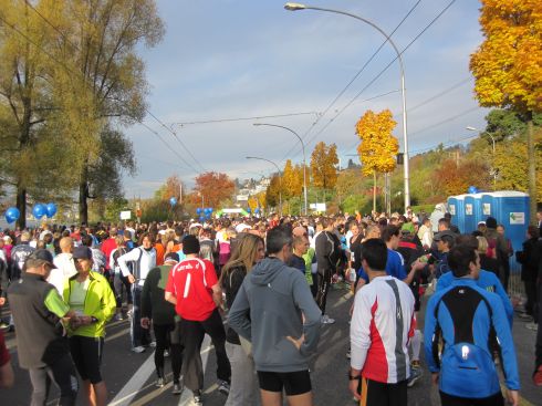
{"label": "man in red number 1 jersey, black trousers and dark cap", "polygon": [[226,332],[218,306],[222,301],[222,290],[217,280],[212,262],[198,258],[199,240],[195,236],[183,239],[186,259],[169,273],[166,300],[175,304],[180,315],[180,329],[185,354],[183,376],[185,386],[194,393],[194,404],[202,405],[204,371],[201,366],[201,343],[207,333],[217,353],[218,391],[229,393],[231,367],[226,355]]}

